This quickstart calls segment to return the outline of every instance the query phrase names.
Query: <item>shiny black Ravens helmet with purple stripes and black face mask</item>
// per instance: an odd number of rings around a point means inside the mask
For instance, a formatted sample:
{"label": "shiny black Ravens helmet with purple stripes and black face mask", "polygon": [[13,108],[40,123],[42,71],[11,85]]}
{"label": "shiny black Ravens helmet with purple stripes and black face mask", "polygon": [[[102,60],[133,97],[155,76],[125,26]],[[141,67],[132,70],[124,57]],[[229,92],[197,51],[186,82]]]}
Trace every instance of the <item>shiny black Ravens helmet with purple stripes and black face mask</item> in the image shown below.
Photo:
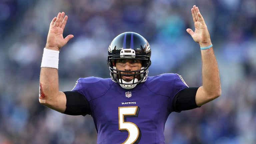
{"label": "shiny black Ravens helmet with purple stripes and black face mask", "polygon": [[[140,82],[147,79],[151,49],[147,40],[134,32],[125,32],[113,39],[108,49],[108,66],[111,79],[119,83],[125,89],[131,89]],[[139,70],[123,71],[117,70],[115,62],[117,59],[136,59],[142,61]],[[122,76],[133,76],[133,80],[126,82]],[[139,79],[138,79],[139,78]]]}

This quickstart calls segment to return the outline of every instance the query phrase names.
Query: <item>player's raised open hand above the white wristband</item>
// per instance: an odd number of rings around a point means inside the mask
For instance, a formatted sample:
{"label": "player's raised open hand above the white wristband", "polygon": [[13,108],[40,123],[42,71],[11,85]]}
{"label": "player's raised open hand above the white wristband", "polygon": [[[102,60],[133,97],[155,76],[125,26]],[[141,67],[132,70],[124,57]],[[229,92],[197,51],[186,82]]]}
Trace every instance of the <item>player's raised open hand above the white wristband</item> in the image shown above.
{"label": "player's raised open hand above the white wristband", "polygon": [[58,13],[58,16],[52,19],[45,48],[59,51],[60,48],[66,45],[66,43],[74,37],[73,35],[68,35],[63,38],[63,30],[67,20],[68,16],[65,16],[64,12]]}

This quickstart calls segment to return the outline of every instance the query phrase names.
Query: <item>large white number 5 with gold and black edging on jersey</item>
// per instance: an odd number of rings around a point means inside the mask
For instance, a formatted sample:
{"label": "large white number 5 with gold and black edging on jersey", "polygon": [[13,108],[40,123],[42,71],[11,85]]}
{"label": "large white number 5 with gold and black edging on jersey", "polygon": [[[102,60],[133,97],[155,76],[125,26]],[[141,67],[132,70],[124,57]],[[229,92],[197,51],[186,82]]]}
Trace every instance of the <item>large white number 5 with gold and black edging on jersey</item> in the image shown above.
{"label": "large white number 5 with gold and black edging on jersey", "polygon": [[132,122],[126,122],[127,117],[138,117],[138,106],[118,107],[119,130],[128,131],[128,138],[122,144],[137,144],[140,141],[141,132],[138,126]]}

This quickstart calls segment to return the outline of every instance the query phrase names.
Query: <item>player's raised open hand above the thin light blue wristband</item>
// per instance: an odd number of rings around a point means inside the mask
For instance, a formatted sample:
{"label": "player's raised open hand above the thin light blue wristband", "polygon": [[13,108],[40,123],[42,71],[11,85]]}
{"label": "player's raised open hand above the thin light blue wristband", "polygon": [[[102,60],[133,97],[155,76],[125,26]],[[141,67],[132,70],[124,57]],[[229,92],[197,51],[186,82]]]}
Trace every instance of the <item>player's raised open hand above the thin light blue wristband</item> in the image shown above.
{"label": "player's raised open hand above the thin light blue wristband", "polygon": [[195,42],[200,44],[200,47],[211,45],[209,31],[198,7],[194,5],[191,9],[191,13],[195,24],[195,31],[187,29],[187,32],[192,36]]}

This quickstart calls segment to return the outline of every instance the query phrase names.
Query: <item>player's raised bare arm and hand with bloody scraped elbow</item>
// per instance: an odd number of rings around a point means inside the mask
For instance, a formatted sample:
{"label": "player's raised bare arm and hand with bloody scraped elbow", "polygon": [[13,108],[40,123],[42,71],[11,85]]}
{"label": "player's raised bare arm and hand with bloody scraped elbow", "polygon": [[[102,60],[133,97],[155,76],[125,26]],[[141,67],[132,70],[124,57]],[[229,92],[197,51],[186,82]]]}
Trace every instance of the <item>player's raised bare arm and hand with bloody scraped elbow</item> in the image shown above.
{"label": "player's raised bare arm and hand with bloody scraped elbow", "polygon": [[[65,28],[68,17],[65,13],[59,13],[54,17],[50,23],[49,33],[45,48],[52,55],[56,55],[60,48],[62,48],[73,35],[68,35],[63,38],[63,30]],[[50,50],[50,51],[49,51]],[[44,53],[45,54],[45,53]],[[48,57],[52,59],[52,57]],[[58,60],[58,58],[57,58]],[[42,62],[43,63],[43,62]],[[53,61],[47,61],[44,65],[52,65]],[[58,64],[57,64],[58,66]],[[59,91],[58,70],[52,66],[42,66],[40,73],[40,87],[39,87],[39,102],[51,109],[59,112],[66,110],[66,96],[63,92]]]}

